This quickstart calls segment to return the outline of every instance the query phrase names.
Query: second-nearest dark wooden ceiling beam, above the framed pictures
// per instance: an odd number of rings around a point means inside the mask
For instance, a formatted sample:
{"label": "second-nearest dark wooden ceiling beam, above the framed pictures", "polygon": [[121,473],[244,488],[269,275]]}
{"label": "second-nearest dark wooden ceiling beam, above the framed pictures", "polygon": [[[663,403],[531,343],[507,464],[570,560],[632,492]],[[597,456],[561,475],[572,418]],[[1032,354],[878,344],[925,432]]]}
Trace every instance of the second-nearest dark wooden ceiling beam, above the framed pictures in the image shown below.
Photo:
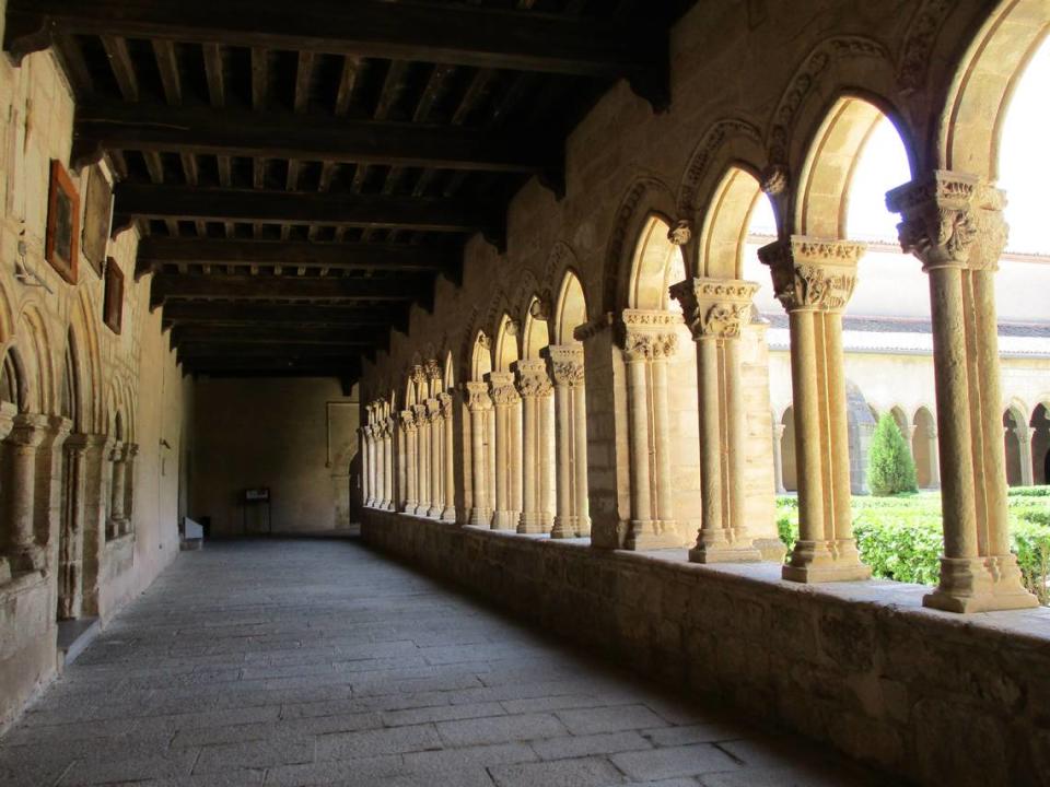
{"label": "second-nearest dark wooden ceiling beam, above the framed pictures", "polygon": [[560,158],[544,140],[477,129],[122,103],[78,107],[74,148],[78,164],[139,150],[533,174]]}

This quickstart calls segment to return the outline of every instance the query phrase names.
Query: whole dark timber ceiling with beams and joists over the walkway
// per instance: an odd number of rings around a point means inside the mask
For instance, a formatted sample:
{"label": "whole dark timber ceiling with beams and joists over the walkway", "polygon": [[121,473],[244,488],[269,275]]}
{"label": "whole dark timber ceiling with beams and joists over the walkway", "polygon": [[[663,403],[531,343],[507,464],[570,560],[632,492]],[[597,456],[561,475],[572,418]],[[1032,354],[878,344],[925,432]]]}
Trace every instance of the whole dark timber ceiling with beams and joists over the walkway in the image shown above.
{"label": "whole dark timber ceiling with beams and joists over the walkway", "polygon": [[9,0],[4,48],[56,47],[186,371],[349,383],[616,80],[667,107],[689,4]]}

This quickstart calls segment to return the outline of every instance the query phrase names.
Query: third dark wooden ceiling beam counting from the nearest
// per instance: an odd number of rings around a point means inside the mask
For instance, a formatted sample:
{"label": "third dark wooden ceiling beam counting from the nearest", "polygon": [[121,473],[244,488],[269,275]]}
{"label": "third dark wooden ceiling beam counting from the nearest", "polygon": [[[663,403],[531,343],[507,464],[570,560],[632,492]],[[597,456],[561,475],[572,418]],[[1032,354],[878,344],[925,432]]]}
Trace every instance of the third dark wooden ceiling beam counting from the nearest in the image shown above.
{"label": "third dark wooden ceiling beam counting from the nearest", "polygon": [[504,218],[493,205],[458,200],[289,193],[252,189],[205,189],[185,186],[118,184],[115,213],[129,218],[270,224],[342,224],[409,227],[430,232],[502,233]]}

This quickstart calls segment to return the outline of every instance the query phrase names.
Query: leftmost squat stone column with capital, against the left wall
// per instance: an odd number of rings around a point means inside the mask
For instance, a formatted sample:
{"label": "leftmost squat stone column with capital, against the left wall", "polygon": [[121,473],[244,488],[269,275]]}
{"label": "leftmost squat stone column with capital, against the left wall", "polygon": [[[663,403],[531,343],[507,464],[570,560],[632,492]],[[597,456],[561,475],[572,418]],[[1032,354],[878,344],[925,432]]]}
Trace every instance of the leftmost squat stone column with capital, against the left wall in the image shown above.
{"label": "leftmost squat stone column with capital, against the left wall", "polygon": [[47,438],[46,415],[19,413],[12,419],[8,447],[8,557],[12,573],[44,571],[46,554],[35,530],[36,454]]}

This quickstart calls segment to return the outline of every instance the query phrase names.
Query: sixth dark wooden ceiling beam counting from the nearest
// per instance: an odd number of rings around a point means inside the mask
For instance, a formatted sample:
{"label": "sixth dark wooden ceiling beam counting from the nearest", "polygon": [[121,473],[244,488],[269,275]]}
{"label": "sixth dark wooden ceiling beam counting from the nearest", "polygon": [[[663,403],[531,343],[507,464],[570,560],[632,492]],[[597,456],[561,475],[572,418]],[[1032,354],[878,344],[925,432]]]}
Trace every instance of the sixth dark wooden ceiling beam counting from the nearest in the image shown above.
{"label": "sixth dark wooden ceiling beam counting from the nearest", "polygon": [[360,303],[260,304],[218,301],[173,301],[164,305],[165,326],[329,326],[334,328],[385,327],[407,315],[407,305],[384,303],[381,309]]}

